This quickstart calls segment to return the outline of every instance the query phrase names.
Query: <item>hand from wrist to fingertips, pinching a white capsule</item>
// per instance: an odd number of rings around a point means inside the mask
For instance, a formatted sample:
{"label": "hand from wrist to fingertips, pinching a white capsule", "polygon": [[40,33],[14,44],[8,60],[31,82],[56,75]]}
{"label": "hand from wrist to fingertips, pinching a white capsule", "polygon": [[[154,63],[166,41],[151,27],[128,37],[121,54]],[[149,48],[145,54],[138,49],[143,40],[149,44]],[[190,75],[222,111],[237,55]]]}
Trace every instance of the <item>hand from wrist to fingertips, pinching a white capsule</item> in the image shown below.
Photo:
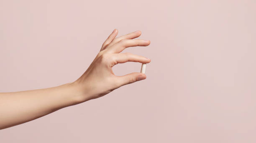
{"label": "hand from wrist to fingertips, pinching a white capsule", "polygon": [[131,53],[120,53],[127,47],[148,46],[149,40],[134,39],[141,35],[136,31],[121,37],[116,37],[118,30],[114,30],[102,44],[90,67],[73,84],[79,87],[82,102],[95,99],[110,93],[125,84],[146,79],[143,73],[134,72],[124,76],[115,76],[112,67],[125,62],[149,63],[150,59]]}

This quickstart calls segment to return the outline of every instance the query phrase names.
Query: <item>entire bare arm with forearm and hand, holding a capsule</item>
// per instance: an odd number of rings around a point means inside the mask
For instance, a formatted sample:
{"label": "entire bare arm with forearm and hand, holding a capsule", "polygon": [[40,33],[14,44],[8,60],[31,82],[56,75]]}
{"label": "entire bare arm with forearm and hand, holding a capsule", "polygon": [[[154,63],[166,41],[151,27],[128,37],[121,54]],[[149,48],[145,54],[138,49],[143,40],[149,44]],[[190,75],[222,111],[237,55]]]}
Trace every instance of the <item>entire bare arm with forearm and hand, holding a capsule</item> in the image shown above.
{"label": "entire bare arm with forearm and hand, holding a capsule", "polygon": [[150,59],[131,53],[120,53],[127,47],[148,46],[149,40],[135,39],[136,31],[116,37],[114,30],[102,44],[88,69],[77,80],[61,86],[30,91],[0,93],[0,129],[25,123],[61,108],[104,96],[120,86],[146,79],[134,72],[116,76],[112,67],[125,62],[149,63]]}

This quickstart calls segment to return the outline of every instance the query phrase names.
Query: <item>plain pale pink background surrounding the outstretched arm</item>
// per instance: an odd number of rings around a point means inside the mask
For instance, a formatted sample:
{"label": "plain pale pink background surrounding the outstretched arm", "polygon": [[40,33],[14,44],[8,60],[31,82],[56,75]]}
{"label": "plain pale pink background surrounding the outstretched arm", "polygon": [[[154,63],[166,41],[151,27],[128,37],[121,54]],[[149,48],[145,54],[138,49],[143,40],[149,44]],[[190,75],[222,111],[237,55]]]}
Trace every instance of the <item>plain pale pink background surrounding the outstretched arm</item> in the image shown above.
{"label": "plain pale pink background surrounding the outstretched arm", "polygon": [[152,62],[146,80],[3,129],[0,142],[255,143],[255,25],[255,0],[1,0],[0,92],[76,80],[114,28],[141,30],[151,44],[125,52]]}

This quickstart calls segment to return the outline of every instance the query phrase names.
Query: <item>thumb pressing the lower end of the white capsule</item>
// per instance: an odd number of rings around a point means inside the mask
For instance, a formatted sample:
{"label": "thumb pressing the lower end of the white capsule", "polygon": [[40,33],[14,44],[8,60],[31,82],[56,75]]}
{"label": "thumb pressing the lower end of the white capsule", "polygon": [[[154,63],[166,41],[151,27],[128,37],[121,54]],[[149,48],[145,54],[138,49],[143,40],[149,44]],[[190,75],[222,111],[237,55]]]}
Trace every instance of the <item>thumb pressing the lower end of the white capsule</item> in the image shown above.
{"label": "thumb pressing the lower end of the white capsule", "polygon": [[136,81],[140,81],[146,79],[146,74],[140,73],[140,72],[133,72],[131,74],[126,74],[124,76],[119,76],[118,81],[119,85],[123,86],[125,84],[131,84]]}

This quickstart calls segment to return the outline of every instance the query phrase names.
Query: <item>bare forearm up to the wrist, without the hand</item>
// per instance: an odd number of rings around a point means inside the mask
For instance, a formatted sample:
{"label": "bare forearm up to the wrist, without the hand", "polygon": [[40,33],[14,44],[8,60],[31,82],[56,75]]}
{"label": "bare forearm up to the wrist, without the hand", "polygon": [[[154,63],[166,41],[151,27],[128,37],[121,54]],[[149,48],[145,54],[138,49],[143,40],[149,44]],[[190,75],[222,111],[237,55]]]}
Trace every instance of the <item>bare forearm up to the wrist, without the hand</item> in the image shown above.
{"label": "bare forearm up to the wrist, without the hand", "polygon": [[78,91],[74,83],[69,83],[47,89],[0,93],[0,129],[85,101]]}

